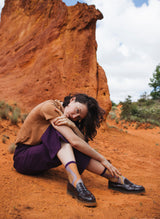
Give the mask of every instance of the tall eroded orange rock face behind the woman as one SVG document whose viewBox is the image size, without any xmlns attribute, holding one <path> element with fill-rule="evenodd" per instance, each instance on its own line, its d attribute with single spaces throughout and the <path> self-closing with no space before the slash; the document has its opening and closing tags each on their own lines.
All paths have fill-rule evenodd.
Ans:
<svg viewBox="0 0 160 219">
<path fill-rule="evenodd" d="M 0 99 L 30 110 L 46 99 L 81 92 L 109 112 L 105 72 L 98 65 L 95 6 L 61 0 L 6 0 L 0 24 Z"/>
</svg>

